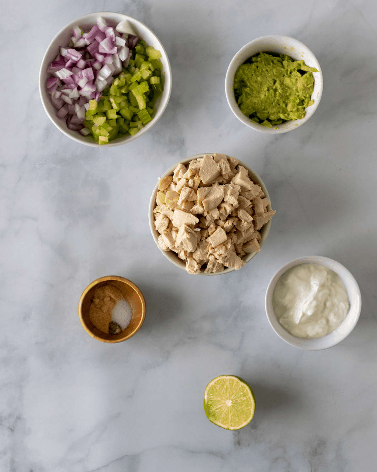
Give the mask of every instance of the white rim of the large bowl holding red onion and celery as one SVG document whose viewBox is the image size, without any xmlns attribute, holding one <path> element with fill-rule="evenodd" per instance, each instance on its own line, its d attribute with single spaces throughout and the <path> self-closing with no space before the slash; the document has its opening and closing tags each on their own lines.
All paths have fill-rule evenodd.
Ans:
<svg viewBox="0 0 377 472">
<path fill-rule="evenodd" d="M 165 67 L 165 64 L 164 64 L 163 72 L 164 72 L 164 90 L 165 90 L 165 87 L 167 85 L 168 92 L 164 95 L 164 100 L 162 100 L 163 97 L 161 97 L 159 99 L 160 100 L 160 103 L 159 103 L 160 108 L 158 110 L 156 110 L 156 115 L 152 118 L 152 120 L 149 123 L 147 123 L 147 125 L 145 125 L 138 133 L 136 133 L 136 135 L 126 136 L 126 137 L 123 137 L 123 138 L 118 138 L 118 139 L 115 139 L 113 141 L 110 141 L 110 143 L 99 146 L 98 143 L 95 143 L 94 141 L 91 141 L 90 139 L 85 139 L 86 136 L 78 135 L 78 134 L 76 134 L 75 131 L 69 130 L 66 127 L 66 125 L 63 126 L 63 122 L 56 115 L 57 110 L 55 108 L 53 109 L 55 111 L 54 115 L 50 112 L 50 110 L 49 110 L 50 107 L 48 106 L 48 104 L 50 104 L 50 100 L 49 100 L 48 93 L 47 93 L 47 90 L 46 90 L 47 65 L 49 63 L 49 60 L 47 60 L 47 59 L 49 58 L 50 50 L 52 48 L 53 43 L 57 40 L 57 38 L 61 34 L 65 33 L 66 30 L 68 30 L 70 28 L 74 28 L 74 26 L 76 26 L 78 23 L 80 23 L 83 19 L 90 20 L 90 18 L 92 18 L 92 17 L 105 17 L 105 19 L 106 19 L 106 16 L 111 16 L 111 15 L 113 15 L 113 16 L 118 15 L 119 17 L 122 18 L 120 21 L 129 20 L 131 22 L 131 25 L 134 24 L 134 25 L 136 25 L 136 27 L 139 26 L 141 28 L 145 28 L 146 30 L 148 30 L 150 32 L 150 34 L 152 34 L 154 36 L 154 38 L 156 39 L 156 42 L 159 43 L 159 50 L 160 50 L 160 52 L 163 56 L 163 59 L 166 62 L 166 65 L 167 65 L 167 67 Z M 107 19 L 109 21 L 113 21 L 110 18 L 107 18 Z M 93 21 L 93 24 L 95 24 L 95 21 Z M 66 136 L 73 139 L 77 143 L 85 144 L 87 146 L 91 146 L 91 147 L 95 147 L 95 148 L 98 148 L 98 147 L 114 147 L 114 146 L 120 146 L 122 144 L 130 143 L 134 139 L 137 139 L 138 137 L 144 135 L 161 118 L 161 116 L 163 115 L 163 113 L 164 113 L 164 111 L 165 111 L 165 109 L 166 109 L 166 107 L 169 103 L 170 95 L 171 95 L 171 92 L 172 92 L 172 68 L 170 66 L 170 61 L 169 61 L 168 55 L 167 55 L 167 53 L 164 49 L 164 46 L 163 46 L 162 42 L 159 40 L 157 35 L 150 28 L 148 28 L 147 25 L 144 25 L 144 23 L 141 23 L 141 21 L 139 21 L 139 20 L 137 20 L 133 17 L 129 17 L 128 15 L 124 15 L 123 13 L 117 13 L 117 12 L 114 12 L 114 11 L 97 11 L 97 12 L 88 13 L 87 15 L 83 15 L 82 17 L 74 19 L 73 21 L 71 21 L 71 23 L 64 26 L 53 37 L 53 39 L 49 43 L 49 46 L 47 47 L 47 49 L 46 49 L 46 51 L 43 55 L 43 59 L 42 59 L 42 62 L 41 62 L 41 67 L 40 67 L 40 70 L 39 70 L 38 84 L 39 84 L 39 95 L 41 97 L 42 106 L 43 106 L 47 116 L 51 120 L 51 122 L 57 127 L 57 129 L 59 131 L 61 131 L 62 133 L 64 133 Z"/>
</svg>

